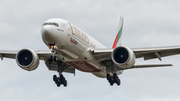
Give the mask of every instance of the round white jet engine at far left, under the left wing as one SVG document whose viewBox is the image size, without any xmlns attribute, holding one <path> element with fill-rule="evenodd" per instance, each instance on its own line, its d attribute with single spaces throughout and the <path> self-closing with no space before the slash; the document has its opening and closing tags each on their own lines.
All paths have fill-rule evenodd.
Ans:
<svg viewBox="0 0 180 101">
<path fill-rule="evenodd" d="M 24 70 L 35 70 L 39 65 L 39 57 L 31 49 L 22 49 L 16 55 L 16 63 Z"/>
</svg>

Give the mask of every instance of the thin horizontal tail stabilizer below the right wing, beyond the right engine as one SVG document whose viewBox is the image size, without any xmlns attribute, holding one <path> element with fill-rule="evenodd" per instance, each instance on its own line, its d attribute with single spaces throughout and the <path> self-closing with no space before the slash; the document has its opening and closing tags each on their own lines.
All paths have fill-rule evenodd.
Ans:
<svg viewBox="0 0 180 101">
<path fill-rule="evenodd" d="M 132 68 L 148 68 L 148 67 L 165 67 L 165 66 L 173 66 L 172 64 L 147 64 L 147 65 L 134 65 Z M 129 69 L 132 69 L 129 68 Z"/>
</svg>

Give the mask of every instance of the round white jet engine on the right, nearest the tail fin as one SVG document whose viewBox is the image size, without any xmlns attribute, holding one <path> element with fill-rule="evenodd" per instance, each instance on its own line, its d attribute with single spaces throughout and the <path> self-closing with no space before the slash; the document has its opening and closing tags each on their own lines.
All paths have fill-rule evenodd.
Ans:
<svg viewBox="0 0 180 101">
<path fill-rule="evenodd" d="M 122 69 L 133 67 L 136 60 L 134 52 L 125 46 L 116 47 L 111 54 L 111 58 L 115 65 Z"/>
</svg>

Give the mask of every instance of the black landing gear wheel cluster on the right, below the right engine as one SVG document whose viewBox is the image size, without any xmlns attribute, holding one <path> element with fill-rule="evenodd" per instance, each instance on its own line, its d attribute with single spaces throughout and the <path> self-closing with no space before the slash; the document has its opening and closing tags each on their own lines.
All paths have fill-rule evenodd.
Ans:
<svg viewBox="0 0 180 101">
<path fill-rule="evenodd" d="M 109 81 L 111 86 L 113 86 L 114 83 L 116 83 L 119 86 L 121 83 L 116 73 L 114 73 L 112 76 L 110 74 L 107 74 L 107 80 Z"/>
</svg>

